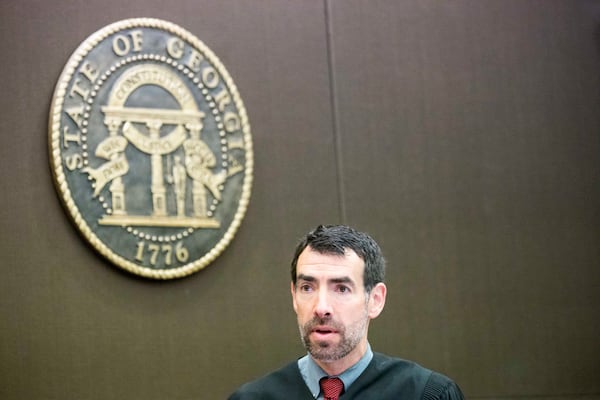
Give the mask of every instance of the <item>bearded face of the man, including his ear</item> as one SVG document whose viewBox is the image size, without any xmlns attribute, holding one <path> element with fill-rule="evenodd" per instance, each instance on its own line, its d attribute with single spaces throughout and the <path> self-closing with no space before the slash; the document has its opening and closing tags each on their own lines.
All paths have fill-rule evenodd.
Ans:
<svg viewBox="0 0 600 400">
<path fill-rule="evenodd" d="M 307 247 L 298 257 L 293 305 L 302 341 L 317 362 L 352 365 L 365 353 L 369 320 L 383 308 L 385 286 L 367 294 L 363 274 L 363 260 L 349 249 L 340 256 Z"/>
</svg>

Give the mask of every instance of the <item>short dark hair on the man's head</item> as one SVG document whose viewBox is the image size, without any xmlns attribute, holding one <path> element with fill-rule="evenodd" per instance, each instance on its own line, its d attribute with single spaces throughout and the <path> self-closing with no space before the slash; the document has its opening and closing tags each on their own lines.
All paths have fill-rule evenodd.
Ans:
<svg viewBox="0 0 600 400">
<path fill-rule="evenodd" d="M 298 257 L 307 247 L 321 254 L 343 256 L 346 249 L 353 250 L 365 263 L 363 274 L 365 291 L 383 282 L 385 278 L 385 259 L 375 240 L 364 232 L 345 225 L 319 225 L 309 232 L 296 247 L 292 259 L 292 282 L 296 285 Z"/>
</svg>

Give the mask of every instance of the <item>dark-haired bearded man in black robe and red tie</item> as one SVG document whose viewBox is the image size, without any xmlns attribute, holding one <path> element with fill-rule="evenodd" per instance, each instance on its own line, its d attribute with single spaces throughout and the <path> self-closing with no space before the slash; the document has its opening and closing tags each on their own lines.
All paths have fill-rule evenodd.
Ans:
<svg viewBox="0 0 600 400">
<path fill-rule="evenodd" d="M 298 245 L 291 293 L 308 354 L 246 383 L 230 400 L 462 400 L 458 385 L 420 365 L 371 350 L 369 321 L 386 299 L 377 243 L 347 226 L 319 226 Z"/>
</svg>

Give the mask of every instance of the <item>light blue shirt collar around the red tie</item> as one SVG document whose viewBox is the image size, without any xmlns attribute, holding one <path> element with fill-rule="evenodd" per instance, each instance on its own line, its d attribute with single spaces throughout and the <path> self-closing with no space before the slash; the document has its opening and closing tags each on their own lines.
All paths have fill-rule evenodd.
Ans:
<svg viewBox="0 0 600 400">
<path fill-rule="evenodd" d="M 371 359 L 373 358 L 373 351 L 371 350 L 371 346 L 367 343 L 367 351 L 362 356 L 360 360 L 344 372 L 342 372 L 337 377 L 344 382 L 344 388 L 348 389 L 352 383 L 363 373 L 363 371 L 367 368 Z M 304 357 L 298 360 L 298 368 L 300 369 L 300 373 L 302 374 L 302 378 L 304 378 L 304 382 L 306 386 L 308 386 L 310 392 L 313 397 L 318 398 L 321 387 L 319 386 L 319 380 L 324 376 L 328 376 L 325 371 L 321 369 L 312 359 L 310 355 L 305 355 Z"/>
</svg>

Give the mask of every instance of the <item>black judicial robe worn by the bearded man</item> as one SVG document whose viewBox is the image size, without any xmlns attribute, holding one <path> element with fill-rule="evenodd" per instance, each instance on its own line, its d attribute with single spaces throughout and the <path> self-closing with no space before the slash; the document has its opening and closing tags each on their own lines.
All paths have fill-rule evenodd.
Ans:
<svg viewBox="0 0 600 400">
<path fill-rule="evenodd" d="M 229 400 L 313 399 L 298 362 L 246 383 Z M 340 400 L 462 400 L 458 385 L 444 375 L 399 358 L 373 353 L 363 373 L 340 396 Z"/>
</svg>

